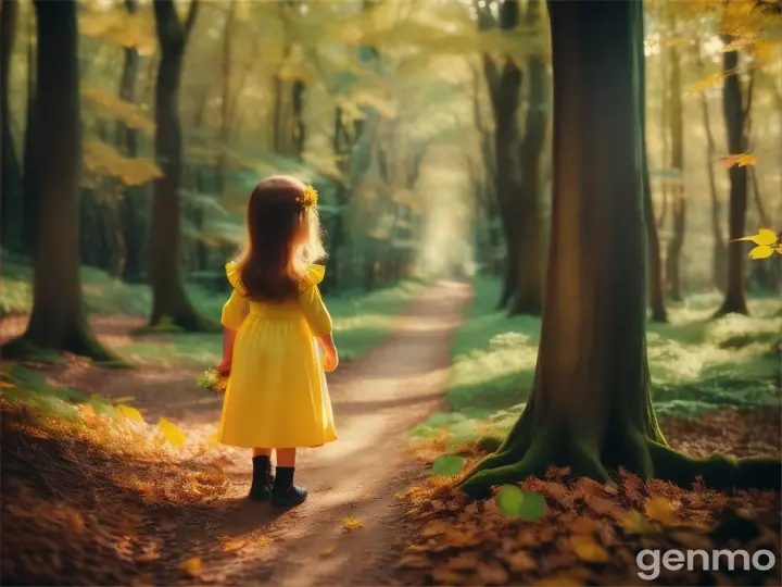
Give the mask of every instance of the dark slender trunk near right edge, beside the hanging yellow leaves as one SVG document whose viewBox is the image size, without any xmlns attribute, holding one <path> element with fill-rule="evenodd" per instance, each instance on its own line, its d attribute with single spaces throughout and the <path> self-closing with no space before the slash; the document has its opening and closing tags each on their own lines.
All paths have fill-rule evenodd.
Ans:
<svg viewBox="0 0 782 587">
<path fill-rule="evenodd" d="M 730 38 L 723 39 L 730 42 Z M 739 66 L 739 53 L 728 51 L 722 53 L 722 71 L 726 74 L 722 85 L 722 110 L 724 113 L 726 129 L 728 132 L 728 152 L 740 154 L 746 147 L 744 136 L 744 105 L 741 84 L 735 73 Z M 728 214 L 728 238 L 735 240 L 744 236 L 746 223 L 747 177 L 746 167 L 733 165 L 728 170 L 730 177 L 730 204 Z M 724 314 L 749 314 L 744 291 L 744 257 L 746 252 L 739 243 L 728 247 L 728 285 L 722 305 L 715 313 L 715 317 Z"/>
</svg>

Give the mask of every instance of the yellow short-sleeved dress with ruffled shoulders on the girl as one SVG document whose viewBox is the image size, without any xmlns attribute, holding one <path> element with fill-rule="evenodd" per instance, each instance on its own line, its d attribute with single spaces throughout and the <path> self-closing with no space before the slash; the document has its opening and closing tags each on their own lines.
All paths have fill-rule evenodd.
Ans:
<svg viewBox="0 0 782 587">
<path fill-rule="evenodd" d="M 310 265 L 290 302 L 245 298 L 236 263 L 223 325 L 238 330 L 217 440 L 243 448 L 317 447 L 337 440 L 326 377 L 315 337 L 331 333 L 317 284 L 325 270 Z M 249 313 L 248 313 L 249 304 Z"/>
</svg>

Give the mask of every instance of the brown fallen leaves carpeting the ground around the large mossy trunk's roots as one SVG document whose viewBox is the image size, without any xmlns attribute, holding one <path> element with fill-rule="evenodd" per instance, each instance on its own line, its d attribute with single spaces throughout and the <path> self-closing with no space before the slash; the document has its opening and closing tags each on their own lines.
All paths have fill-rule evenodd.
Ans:
<svg viewBox="0 0 782 587">
<path fill-rule="evenodd" d="M 779 457 L 778 414 L 727 410 L 696 421 L 663 421 L 669 441 L 701 455 Z M 437 439 L 413 452 L 427 463 L 445 445 Z M 699 449 L 699 450 L 698 450 Z M 567 469 L 551 467 L 545 478 L 495 488 L 493 498 L 470 502 L 455 485 L 485 453 L 476 446 L 456 451 L 465 466 L 451 477 L 421 477 L 398 496 L 406 502 L 412 538 L 399 562 L 406 585 L 638 585 L 636 555 L 644 549 L 760 549 L 780 560 L 780 494 L 718 492 L 699 483 L 684 489 L 659 479 L 644 482 L 621 471 L 616 484 L 569 479 Z M 442 461 L 441 461 L 442 462 Z M 510 489 L 508 489 L 510 488 Z M 540 495 L 544 513 L 507 515 L 508 496 Z M 510 507 L 513 510 L 516 502 Z M 504 513 L 505 512 L 505 513 Z M 699 561 L 697 557 L 695 562 Z M 780 585 L 780 565 L 767 572 L 668 571 L 657 585 Z"/>
</svg>

